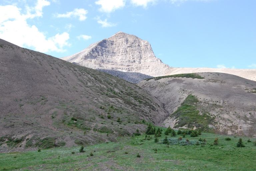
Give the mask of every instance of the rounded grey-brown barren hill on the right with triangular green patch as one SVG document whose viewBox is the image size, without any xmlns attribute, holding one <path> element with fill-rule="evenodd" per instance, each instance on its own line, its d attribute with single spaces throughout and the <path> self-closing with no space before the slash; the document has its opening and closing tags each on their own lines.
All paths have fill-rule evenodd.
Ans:
<svg viewBox="0 0 256 171">
<path fill-rule="evenodd" d="M 255 136 L 256 82 L 223 73 L 196 74 L 204 79 L 179 75 L 147 79 L 138 85 L 164 103 L 169 112 L 165 126 Z"/>
</svg>

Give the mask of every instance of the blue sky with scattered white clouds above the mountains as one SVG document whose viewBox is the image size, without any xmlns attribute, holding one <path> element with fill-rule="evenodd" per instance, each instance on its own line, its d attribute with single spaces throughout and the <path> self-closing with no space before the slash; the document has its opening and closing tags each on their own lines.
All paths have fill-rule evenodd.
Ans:
<svg viewBox="0 0 256 171">
<path fill-rule="evenodd" d="M 60 58 L 122 31 L 170 67 L 256 69 L 255 0 L 1 0 L 0 38 Z"/>
</svg>

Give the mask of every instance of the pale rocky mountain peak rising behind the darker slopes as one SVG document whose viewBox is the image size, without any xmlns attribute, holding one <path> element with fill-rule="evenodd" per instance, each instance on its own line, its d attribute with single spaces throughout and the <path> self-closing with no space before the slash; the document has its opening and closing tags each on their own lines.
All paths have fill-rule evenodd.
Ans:
<svg viewBox="0 0 256 171">
<path fill-rule="evenodd" d="M 163 76 L 169 68 L 155 57 L 148 41 L 123 32 L 61 59 L 92 69 L 139 72 L 154 77 Z"/>
</svg>

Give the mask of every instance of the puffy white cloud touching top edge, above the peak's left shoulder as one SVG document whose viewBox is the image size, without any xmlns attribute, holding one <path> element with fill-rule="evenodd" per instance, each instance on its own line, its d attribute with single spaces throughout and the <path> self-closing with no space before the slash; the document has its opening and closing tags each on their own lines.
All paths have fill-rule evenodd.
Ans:
<svg viewBox="0 0 256 171">
<path fill-rule="evenodd" d="M 100 11 L 110 13 L 116 9 L 122 8 L 125 6 L 126 0 L 98 0 L 95 2 L 97 5 L 101 5 Z"/>
</svg>

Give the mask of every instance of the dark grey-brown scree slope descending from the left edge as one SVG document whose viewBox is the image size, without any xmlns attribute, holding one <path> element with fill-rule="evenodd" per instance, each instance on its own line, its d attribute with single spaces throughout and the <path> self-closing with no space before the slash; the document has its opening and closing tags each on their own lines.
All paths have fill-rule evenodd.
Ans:
<svg viewBox="0 0 256 171">
<path fill-rule="evenodd" d="M 118 77 L 0 39 L 0 152 L 114 141 L 146 127 L 134 122 L 161 123 L 160 106 Z"/>
</svg>

